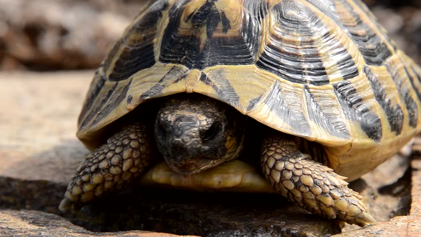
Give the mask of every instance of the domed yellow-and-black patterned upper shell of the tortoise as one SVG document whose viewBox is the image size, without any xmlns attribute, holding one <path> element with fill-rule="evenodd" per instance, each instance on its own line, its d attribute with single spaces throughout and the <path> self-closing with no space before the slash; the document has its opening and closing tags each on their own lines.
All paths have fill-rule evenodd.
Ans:
<svg viewBox="0 0 421 237">
<path fill-rule="evenodd" d="M 360 0 L 155 1 L 96 71 L 77 136 L 94 148 L 139 104 L 180 92 L 323 144 L 348 180 L 421 128 L 421 68 Z"/>
</svg>

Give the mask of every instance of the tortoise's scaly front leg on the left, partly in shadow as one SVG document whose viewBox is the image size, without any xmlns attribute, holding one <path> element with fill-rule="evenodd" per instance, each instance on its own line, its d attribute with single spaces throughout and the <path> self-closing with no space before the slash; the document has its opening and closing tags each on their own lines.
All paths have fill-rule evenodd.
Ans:
<svg viewBox="0 0 421 237">
<path fill-rule="evenodd" d="M 152 131 L 142 123 L 133 123 L 114 134 L 79 165 L 59 209 L 75 209 L 126 188 L 151 163 L 152 142 Z"/>
</svg>

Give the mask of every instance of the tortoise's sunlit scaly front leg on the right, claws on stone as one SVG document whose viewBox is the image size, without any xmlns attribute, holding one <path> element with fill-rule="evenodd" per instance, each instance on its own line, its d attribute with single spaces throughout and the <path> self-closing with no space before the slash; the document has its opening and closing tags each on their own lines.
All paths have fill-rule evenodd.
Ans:
<svg viewBox="0 0 421 237">
<path fill-rule="evenodd" d="M 289 140 L 290 138 L 291 140 Z M 298 150 L 294 138 L 269 135 L 262 144 L 261 165 L 266 179 L 300 207 L 331 219 L 365 226 L 377 221 L 357 192 L 333 169 Z"/>
</svg>

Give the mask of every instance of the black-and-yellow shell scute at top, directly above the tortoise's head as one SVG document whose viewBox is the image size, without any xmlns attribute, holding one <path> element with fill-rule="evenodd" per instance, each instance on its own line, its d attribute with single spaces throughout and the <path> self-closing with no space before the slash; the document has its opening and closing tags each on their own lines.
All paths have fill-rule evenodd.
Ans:
<svg viewBox="0 0 421 237">
<path fill-rule="evenodd" d="M 260 24 L 240 2 L 184 2 L 174 5 L 168 18 L 161 42 L 161 62 L 200 70 L 219 64 L 254 63 Z"/>
</svg>

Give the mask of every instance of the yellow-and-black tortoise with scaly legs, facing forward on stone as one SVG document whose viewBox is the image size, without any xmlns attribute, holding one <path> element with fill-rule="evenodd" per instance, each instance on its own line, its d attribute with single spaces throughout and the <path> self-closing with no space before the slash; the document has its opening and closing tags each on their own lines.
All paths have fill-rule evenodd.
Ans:
<svg viewBox="0 0 421 237">
<path fill-rule="evenodd" d="M 94 75 L 77 132 L 91 153 L 59 208 L 160 158 L 189 177 L 255 153 L 296 205 L 375 224 L 347 182 L 420 132 L 420 96 L 420 66 L 360 0 L 157 0 Z"/>
</svg>

